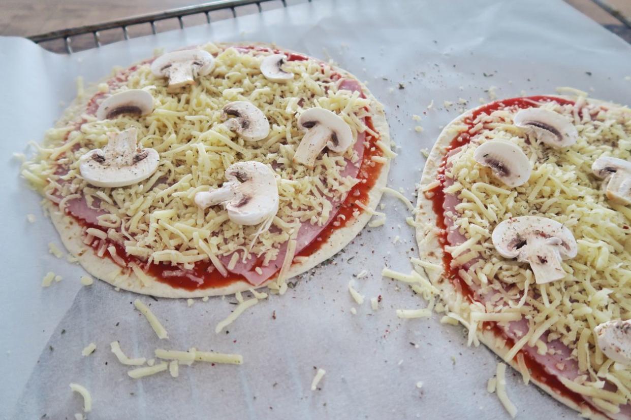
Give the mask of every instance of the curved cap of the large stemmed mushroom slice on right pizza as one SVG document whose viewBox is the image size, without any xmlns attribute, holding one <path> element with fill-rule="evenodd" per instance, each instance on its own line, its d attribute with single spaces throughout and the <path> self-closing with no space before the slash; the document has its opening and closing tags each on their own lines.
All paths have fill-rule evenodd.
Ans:
<svg viewBox="0 0 631 420">
<path fill-rule="evenodd" d="M 516 258 L 521 248 L 532 240 L 545 240 L 558 250 L 563 259 L 574 258 L 578 247 L 572 232 L 556 220 L 547 217 L 521 216 L 506 219 L 493 229 L 492 241 L 505 258 Z"/>
</svg>

